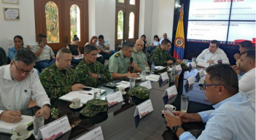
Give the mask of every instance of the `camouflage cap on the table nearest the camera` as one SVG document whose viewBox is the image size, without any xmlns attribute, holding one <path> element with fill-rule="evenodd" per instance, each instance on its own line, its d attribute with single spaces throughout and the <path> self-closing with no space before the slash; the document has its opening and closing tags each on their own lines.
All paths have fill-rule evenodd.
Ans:
<svg viewBox="0 0 256 140">
<path fill-rule="evenodd" d="M 108 109 L 107 101 L 100 99 L 89 100 L 84 109 L 80 111 L 86 117 L 93 117 L 99 112 L 106 112 Z"/>
</svg>

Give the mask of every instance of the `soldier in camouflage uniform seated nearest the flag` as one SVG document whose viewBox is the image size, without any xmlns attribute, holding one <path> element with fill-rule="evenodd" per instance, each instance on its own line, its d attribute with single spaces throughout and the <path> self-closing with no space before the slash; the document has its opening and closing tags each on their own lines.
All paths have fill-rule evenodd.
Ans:
<svg viewBox="0 0 256 140">
<path fill-rule="evenodd" d="M 180 63 L 181 61 L 177 58 L 173 58 L 167 50 L 171 48 L 171 42 L 168 39 L 163 39 L 160 47 L 157 47 L 151 52 L 150 63 L 155 64 L 155 66 L 166 66 L 171 63 Z"/>
</svg>

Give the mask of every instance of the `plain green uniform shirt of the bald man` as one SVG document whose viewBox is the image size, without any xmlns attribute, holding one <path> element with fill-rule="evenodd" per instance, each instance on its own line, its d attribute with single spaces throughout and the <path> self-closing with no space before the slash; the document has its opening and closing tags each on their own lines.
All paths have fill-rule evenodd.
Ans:
<svg viewBox="0 0 256 140">
<path fill-rule="evenodd" d="M 137 64 L 139 69 L 144 70 L 145 67 L 147 67 L 147 56 L 145 55 L 144 52 L 138 52 L 134 47 L 133 55 L 131 55 L 131 57 L 133 57 L 133 62 Z"/>
</svg>

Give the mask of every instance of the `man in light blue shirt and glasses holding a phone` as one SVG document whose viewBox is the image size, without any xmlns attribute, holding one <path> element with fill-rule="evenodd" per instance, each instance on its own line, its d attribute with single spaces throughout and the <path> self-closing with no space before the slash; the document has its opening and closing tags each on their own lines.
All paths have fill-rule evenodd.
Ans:
<svg viewBox="0 0 256 140">
<path fill-rule="evenodd" d="M 255 140 L 255 103 L 252 98 L 238 91 L 236 72 L 226 64 L 210 66 L 206 72 L 205 83 L 201 88 L 206 99 L 214 104 L 214 110 L 194 114 L 174 112 L 175 117 L 165 112 L 168 127 L 179 140 L 196 139 L 181 127 L 181 123 L 188 122 L 206 123 L 205 130 L 198 137 L 201 140 Z"/>
</svg>

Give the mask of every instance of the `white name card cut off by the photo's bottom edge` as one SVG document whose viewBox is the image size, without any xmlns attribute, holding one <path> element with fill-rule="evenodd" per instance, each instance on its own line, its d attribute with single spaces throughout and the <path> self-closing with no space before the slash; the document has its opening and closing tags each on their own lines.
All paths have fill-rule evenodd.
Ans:
<svg viewBox="0 0 256 140">
<path fill-rule="evenodd" d="M 101 126 L 98 126 L 97 128 L 93 129 L 92 131 L 89 131 L 88 133 L 85 133 L 85 135 L 80 136 L 76 140 L 84 140 L 84 139 L 104 140 L 103 133 L 102 133 L 102 130 L 101 130 Z"/>
</svg>

